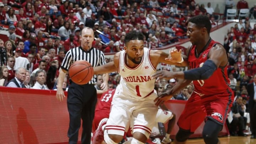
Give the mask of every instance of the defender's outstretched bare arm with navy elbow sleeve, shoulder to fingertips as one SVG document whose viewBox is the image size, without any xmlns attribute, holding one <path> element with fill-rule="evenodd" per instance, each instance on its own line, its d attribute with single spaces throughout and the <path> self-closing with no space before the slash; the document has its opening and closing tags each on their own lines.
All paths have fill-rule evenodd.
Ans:
<svg viewBox="0 0 256 144">
<path fill-rule="evenodd" d="M 225 66 L 228 63 L 226 50 L 221 45 L 213 47 L 209 52 L 209 59 L 200 68 L 187 71 L 169 72 L 159 71 L 154 74 L 153 78 L 178 78 L 187 80 L 206 80 L 219 66 Z"/>
</svg>

